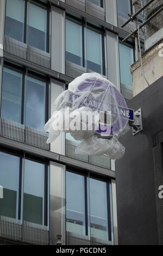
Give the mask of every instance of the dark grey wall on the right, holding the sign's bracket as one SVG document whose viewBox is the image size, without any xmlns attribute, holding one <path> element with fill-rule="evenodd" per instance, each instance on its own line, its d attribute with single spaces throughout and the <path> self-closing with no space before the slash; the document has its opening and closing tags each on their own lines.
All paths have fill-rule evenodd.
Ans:
<svg viewBox="0 0 163 256">
<path fill-rule="evenodd" d="M 126 154 L 116 161 L 119 245 L 163 245 L 163 77 L 128 101 L 142 109 L 143 131 L 121 139 Z"/>
</svg>

